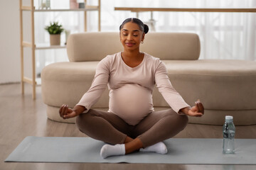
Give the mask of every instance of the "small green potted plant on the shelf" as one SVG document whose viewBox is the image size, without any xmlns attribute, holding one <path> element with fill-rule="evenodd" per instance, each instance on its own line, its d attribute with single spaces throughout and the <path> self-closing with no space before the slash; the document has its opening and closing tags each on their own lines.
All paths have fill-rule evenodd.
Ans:
<svg viewBox="0 0 256 170">
<path fill-rule="evenodd" d="M 60 45 L 60 33 L 64 30 L 62 25 L 58 22 L 50 22 L 50 25 L 46 26 L 45 30 L 50 34 L 50 45 Z"/>
</svg>

